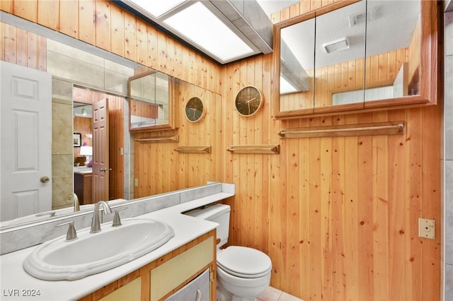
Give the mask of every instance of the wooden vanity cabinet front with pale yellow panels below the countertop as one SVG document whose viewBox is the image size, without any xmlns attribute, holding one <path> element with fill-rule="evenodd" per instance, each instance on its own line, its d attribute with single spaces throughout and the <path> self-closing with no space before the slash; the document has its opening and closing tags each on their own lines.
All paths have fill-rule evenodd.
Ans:
<svg viewBox="0 0 453 301">
<path fill-rule="evenodd" d="M 82 298 L 94 300 L 166 300 L 210 270 L 210 300 L 216 297 L 216 230 Z"/>
</svg>

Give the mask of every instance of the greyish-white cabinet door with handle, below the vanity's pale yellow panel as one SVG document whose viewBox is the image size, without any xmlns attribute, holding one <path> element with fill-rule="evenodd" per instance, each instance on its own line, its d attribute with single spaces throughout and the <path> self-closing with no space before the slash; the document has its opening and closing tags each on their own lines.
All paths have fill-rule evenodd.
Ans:
<svg viewBox="0 0 453 301">
<path fill-rule="evenodd" d="M 166 301 L 210 301 L 210 268 L 190 281 L 183 288 L 166 299 Z"/>
</svg>

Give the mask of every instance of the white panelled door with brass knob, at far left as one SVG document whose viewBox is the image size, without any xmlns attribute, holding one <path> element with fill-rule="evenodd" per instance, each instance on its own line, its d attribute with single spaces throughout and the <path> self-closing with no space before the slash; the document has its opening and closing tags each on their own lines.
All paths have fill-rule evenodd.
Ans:
<svg viewBox="0 0 453 301">
<path fill-rule="evenodd" d="M 52 210 L 52 76 L 0 61 L 0 221 Z"/>
</svg>

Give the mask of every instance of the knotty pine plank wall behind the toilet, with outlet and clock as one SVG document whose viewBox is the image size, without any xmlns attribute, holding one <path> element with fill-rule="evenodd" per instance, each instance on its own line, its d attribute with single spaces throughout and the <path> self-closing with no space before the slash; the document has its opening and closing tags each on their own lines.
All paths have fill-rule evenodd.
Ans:
<svg viewBox="0 0 453 301">
<path fill-rule="evenodd" d="M 330 2 L 302 1 L 273 20 Z M 267 100 L 269 61 L 225 68 L 226 108 L 251 83 Z M 236 184 L 230 242 L 270 254 L 273 286 L 304 300 L 440 300 L 440 232 L 418 237 L 420 217 L 440 230 L 440 107 L 282 122 L 266 110 L 252 119 L 230 112 L 226 144 L 281 146 L 280 155 L 225 160 L 226 182 Z M 406 122 L 404 135 L 275 139 L 280 128 L 394 120 Z"/>
</svg>

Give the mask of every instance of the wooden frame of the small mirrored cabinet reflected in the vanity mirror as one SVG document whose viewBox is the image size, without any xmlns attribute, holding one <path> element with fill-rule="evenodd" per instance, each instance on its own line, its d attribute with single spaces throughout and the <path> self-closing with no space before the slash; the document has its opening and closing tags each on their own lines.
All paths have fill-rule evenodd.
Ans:
<svg viewBox="0 0 453 301">
<path fill-rule="evenodd" d="M 135 79 L 142 78 L 144 76 L 149 76 L 154 73 L 158 73 L 159 71 L 156 71 L 154 69 L 149 69 L 149 71 L 138 73 L 134 76 L 131 76 L 127 80 L 127 102 L 129 102 L 129 131 L 130 132 L 139 132 L 139 131 L 160 131 L 160 130 L 166 130 L 166 129 L 176 129 L 178 126 L 176 126 L 176 114 L 177 114 L 177 108 L 176 104 L 174 102 L 174 87 L 176 83 L 176 78 L 173 76 L 168 75 L 168 124 L 158 124 L 158 125 L 152 125 L 152 126 L 142 126 L 142 127 L 131 127 L 131 112 L 132 112 L 132 97 L 130 95 L 130 85 L 131 81 L 134 81 Z"/>
</svg>

